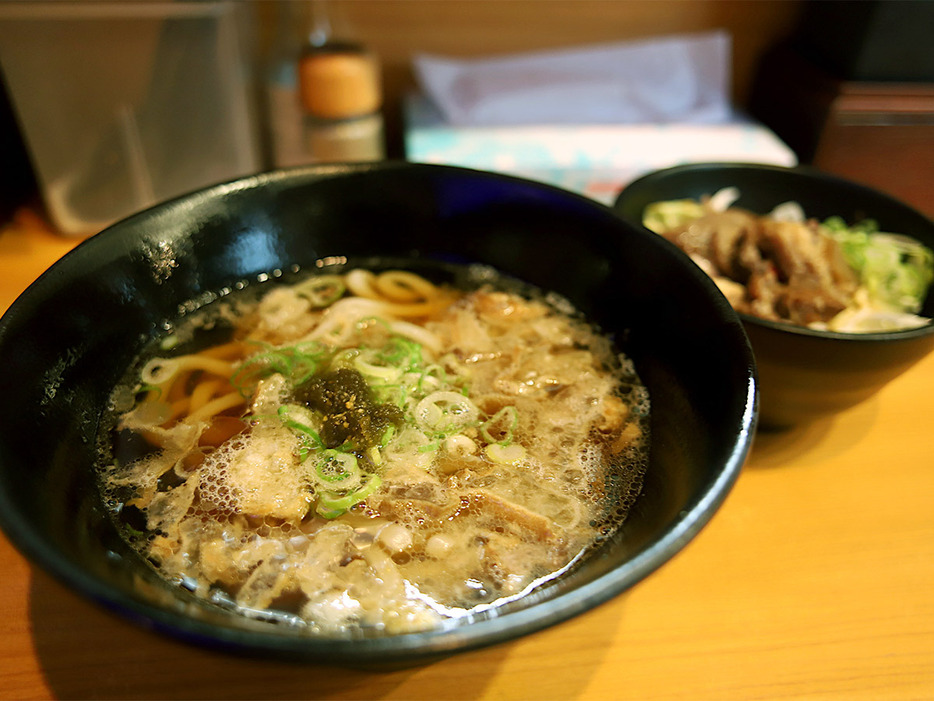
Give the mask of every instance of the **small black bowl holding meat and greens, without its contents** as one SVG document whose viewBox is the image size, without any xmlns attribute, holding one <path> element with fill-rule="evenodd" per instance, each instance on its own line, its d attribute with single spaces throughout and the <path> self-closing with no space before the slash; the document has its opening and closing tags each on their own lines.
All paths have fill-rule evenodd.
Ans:
<svg viewBox="0 0 934 701">
<path fill-rule="evenodd" d="M 798 202 L 809 217 L 875 219 L 884 231 L 906 234 L 934 248 L 934 223 L 908 205 L 821 171 L 746 163 L 675 166 L 626 186 L 615 211 L 641 225 L 653 202 L 697 199 L 725 187 L 739 189 L 735 206 L 758 214 Z M 685 256 L 686 257 L 686 256 Z M 934 318 L 934 292 L 922 315 Z M 934 325 L 885 333 L 815 331 L 740 314 L 759 370 L 760 425 L 783 428 L 834 414 L 869 398 L 934 348 Z"/>
</svg>

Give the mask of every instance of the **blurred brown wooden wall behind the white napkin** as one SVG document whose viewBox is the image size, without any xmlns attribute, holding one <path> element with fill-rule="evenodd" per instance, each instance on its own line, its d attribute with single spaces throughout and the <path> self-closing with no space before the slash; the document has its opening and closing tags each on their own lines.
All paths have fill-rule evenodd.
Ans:
<svg viewBox="0 0 934 701">
<path fill-rule="evenodd" d="M 802 0 L 331 0 L 335 33 L 352 33 L 379 56 L 390 156 L 402 155 L 401 100 L 416 85 L 418 52 L 452 57 L 724 29 L 733 41 L 733 97 L 743 107 L 760 59 L 788 36 Z M 277 3 L 262 2 L 258 48 L 274 41 Z"/>
</svg>

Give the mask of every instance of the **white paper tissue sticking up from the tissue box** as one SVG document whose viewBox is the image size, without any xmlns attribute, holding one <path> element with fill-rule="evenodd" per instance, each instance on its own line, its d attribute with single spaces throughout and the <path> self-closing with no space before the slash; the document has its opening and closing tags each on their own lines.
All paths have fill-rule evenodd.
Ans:
<svg viewBox="0 0 934 701">
<path fill-rule="evenodd" d="M 414 65 L 450 124 L 502 126 L 727 121 L 730 62 L 730 37 L 715 31 Z"/>
</svg>

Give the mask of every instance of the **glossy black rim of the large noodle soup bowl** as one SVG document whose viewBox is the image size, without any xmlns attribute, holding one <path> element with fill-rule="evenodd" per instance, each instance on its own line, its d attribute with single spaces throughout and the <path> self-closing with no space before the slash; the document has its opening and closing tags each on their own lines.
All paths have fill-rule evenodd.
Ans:
<svg viewBox="0 0 934 701">
<path fill-rule="evenodd" d="M 600 211 L 601 216 L 610 220 L 619 218 L 613 211 L 590 198 L 578 195 L 551 185 L 514 177 L 501 173 L 480 171 L 457 166 L 412 164 L 407 162 L 383 162 L 379 164 L 300 166 L 279 169 L 260 174 L 247 175 L 218 183 L 206 188 L 186 193 L 176 198 L 156 204 L 130 215 L 78 244 L 54 263 L 36 281 L 24 291 L 10 309 L 0 318 L 0 338 L 5 334 L 5 327 L 10 313 L 16 313 L 19 300 L 26 295 L 36 294 L 43 279 L 57 275 L 63 269 L 78 264 L 83 251 L 105 246 L 109 239 L 126 236 L 125 229 L 132 228 L 138 221 L 159 216 L 161 213 L 184 208 L 187 203 L 205 198 L 216 198 L 226 193 L 242 189 L 262 188 L 271 182 L 301 179 L 317 174 L 322 178 L 341 176 L 347 173 L 361 173 L 373 170 L 392 170 L 393 168 L 422 168 L 436 170 L 456 170 L 472 173 L 488 181 L 503 181 L 532 186 L 542 191 L 576 200 L 578 203 Z M 85 248 L 87 247 L 87 248 Z M 673 245 L 674 250 L 677 250 Z M 716 291 L 716 286 L 709 281 L 702 271 L 689 273 L 702 276 Z M 719 291 L 716 291 L 719 294 Z M 737 329 L 742 332 L 742 326 Z M 444 627 L 424 632 L 383 635 L 377 637 L 337 638 L 313 635 L 282 635 L 268 630 L 246 630 L 215 626 L 197 620 L 184 613 L 169 610 L 148 601 L 134 599 L 129 595 L 110 587 L 103 578 L 98 578 L 77 564 L 63 558 L 49 543 L 38 536 L 26 519 L 11 518 L 9 510 L 2 508 L 10 501 L 10 495 L 0 492 L 0 527 L 11 543 L 32 563 L 53 575 L 66 587 L 74 587 L 85 598 L 95 601 L 106 609 L 130 619 L 144 628 L 183 642 L 208 648 L 226 649 L 228 652 L 251 656 L 274 657 L 306 663 L 338 664 L 344 666 L 369 666 L 380 663 L 417 664 L 437 657 L 487 647 L 489 645 L 516 639 L 534 633 L 557 623 L 568 620 L 585 611 L 592 610 L 611 598 L 632 588 L 638 582 L 671 560 L 689 541 L 710 521 L 720 505 L 725 501 L 732 486 L 738 479 L 740 470 L 752 448 L 755 427 L 758 420 L 758 380 L 755 372 L 755 360 L 748 338 L 745 339 L 744 352 L 747 359 L 746 387 L 741 415 L 732 417 L 735 422 L 736 436 L 732 441 L 729 454 L 724 460 L 715 478 L 709 480 L 698 491 L 693 503 L 685 504 L 671 525 L 661 531 L 655 539 L 639 550 L 623 565 L 611 570 L 593 581 L 562 593 L 553 599 L 533 603 L 516 611 L 509 611 L 468 624 L 454 622 L 449 629 Z"/>
</svg>

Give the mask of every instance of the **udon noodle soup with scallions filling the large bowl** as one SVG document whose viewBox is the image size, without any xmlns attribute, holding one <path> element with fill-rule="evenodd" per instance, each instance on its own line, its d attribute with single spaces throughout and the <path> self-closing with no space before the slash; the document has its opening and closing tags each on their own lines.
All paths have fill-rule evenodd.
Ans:
<svg viewBox="0 0 934 701">
<path fill-rule="evenodd" d="M 105 495 L 165 578 L 245 615 L 404 633 L 521 597 L 644 469 L 644 388 L 561 306 L 401 270 L 276 287 L 225 342 L 141 360 Z"/>
</svg>

